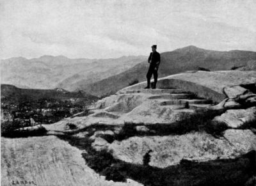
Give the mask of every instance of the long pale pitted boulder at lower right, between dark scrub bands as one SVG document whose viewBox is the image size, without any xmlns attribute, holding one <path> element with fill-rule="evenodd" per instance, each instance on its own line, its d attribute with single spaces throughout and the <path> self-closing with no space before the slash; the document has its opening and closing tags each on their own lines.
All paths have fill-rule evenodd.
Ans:
<svg viewBox="0 0 256 186">
<path fill-rule="evenodd" d="M 237 140 L 235 134 L 239 136 Z M 216 139 L 205 132 L 180 136 L 130 137 L 109 144 L 109 150 L 116 159 L 132 164 L 143 164 L 143 157 L 152 150 L 149 165 L 161 168 L 180 164 L 180 160 L 184 159 L 197 162 L 235 159 L 250 150 L 256 150 L 256 136 L 250 130 L 228 130 L 225 136 L 228 140 Z M 237 141 L 241 142 L 237 144 Z"/>
</svg>

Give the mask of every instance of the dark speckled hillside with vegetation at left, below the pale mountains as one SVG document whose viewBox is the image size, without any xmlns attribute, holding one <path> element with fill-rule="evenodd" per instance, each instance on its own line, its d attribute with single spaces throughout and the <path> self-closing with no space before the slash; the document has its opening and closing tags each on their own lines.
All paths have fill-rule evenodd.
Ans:
<svg viewBox="0 0 256 186">
<path fill-rule="evenodd" d="M 96 97 L 63 89 L 19 89 L 1 86 L 1 134 L 21 127 L 50 124 L 82 112 Z"/>
</svg>

